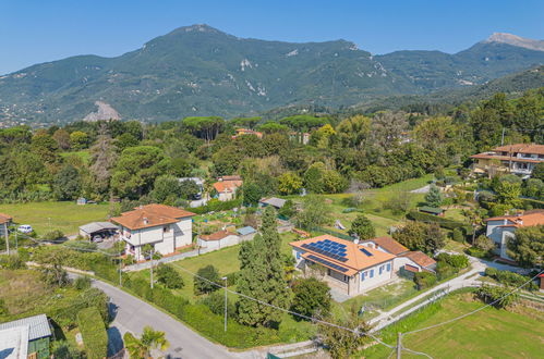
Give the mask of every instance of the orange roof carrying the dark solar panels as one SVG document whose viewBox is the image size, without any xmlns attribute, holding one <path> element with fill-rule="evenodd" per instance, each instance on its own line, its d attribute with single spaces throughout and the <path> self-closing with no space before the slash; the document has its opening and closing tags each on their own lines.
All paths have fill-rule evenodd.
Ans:
<svg viewBox="0 0 544 359">
<path fill-rule="evenodd" d="M 335 246 L 343 246 L 344 255 L 343 256 L 335 256 L 337 258 L 330 257 L 330 252 L 325 252 L 324 250 L 317 251 L 315 250 L 315 247 L 309 247 L 309 245 L 312 244 L 317 244 L 317 243 L 336 243 Z M 346 275 L 353 275 L 361 270 L 364 270 L 370 267 L 374 267 L 376 264 L 392 260 L 395 258 L 394 255 L 386 253 L 382 250 L 375 249 L 375 248 L 370 248 L 360 244 L 355 244 L 350 240 L 344 240 L 337 238 L 331 235 L 322 235 L 309 239 L 303 239 L 303 240 L 298 240 L 298 242 L 291 242 L 289 245 L 291 245 L 294 248 L 301 249 L 305 251 L 303 253 L 304 258 L 307 258 L 310 256 L 313 256 L 314 258 L 318 258 L 323 261 L 315 260 L 310 258 L 313 261 L 318 261 L 321 264 L 330 268 L 333 270 L 339 271 L 338 268 L 340 267 L 342 269 L 346 269 L 344 272 L 341 272 L 342 274 Z M 329 263 L 329 264 L 327 264 Z M 330 265 L 333 264 L 333 265 Z"/>
</svg>

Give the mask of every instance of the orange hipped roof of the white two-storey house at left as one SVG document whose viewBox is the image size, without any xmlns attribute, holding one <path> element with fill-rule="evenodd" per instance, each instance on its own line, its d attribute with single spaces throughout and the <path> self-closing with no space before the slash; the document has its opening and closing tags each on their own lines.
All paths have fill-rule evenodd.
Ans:
<svg viewBox="0 0 544 359">
<path fill-rule="evenodd" d="M 195 215 L 171 206 L 147 205 L 136 207 L 133 211 L 114 216 L 112 222 L 119 223 L 129 230 L 148 228 L 158 225 L 177 223 L 180 219 Z"/>
</svg>

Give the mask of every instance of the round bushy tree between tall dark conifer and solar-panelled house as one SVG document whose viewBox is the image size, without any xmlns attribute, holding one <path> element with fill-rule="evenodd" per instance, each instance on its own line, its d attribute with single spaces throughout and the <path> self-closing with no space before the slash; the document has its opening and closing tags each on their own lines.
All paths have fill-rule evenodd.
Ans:
<svg viewBox="0 0 544 359">
<path fill-rule="evenodd" d="M 315 277 L 302 278 L 292 285 L 294 294 L 291 310 L 306 317 L 328 317 L 330 311 L 330 288 Z M 294 317 L 301 320 L 300 317 Z"/>
</svg>

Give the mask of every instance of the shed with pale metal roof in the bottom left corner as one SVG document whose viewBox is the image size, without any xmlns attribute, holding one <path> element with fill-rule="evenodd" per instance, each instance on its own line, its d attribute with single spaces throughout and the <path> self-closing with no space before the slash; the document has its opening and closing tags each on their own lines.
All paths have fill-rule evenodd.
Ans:
<svg viewBox="0 0 544 359">
<path fill-rule="evenodd" d="M 46 314 L 0 323 L 0 358 L 49 358 L 51 335 Z"/>
</svg>

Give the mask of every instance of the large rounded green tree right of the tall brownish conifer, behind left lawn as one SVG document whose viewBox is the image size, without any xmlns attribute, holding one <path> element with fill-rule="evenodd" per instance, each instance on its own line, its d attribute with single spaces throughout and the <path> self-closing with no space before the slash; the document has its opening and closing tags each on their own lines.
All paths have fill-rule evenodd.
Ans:
<svg viewBox="0 0 544 359">
<path fill-rule="evenodd" d="M 152 189 L 155 178 L 167 172 L 170 160 L 161 149 L 137 146 L 125 149 L 117 163 L 111 187 L 113 193 L 137 199 Z"/>
</svg>

